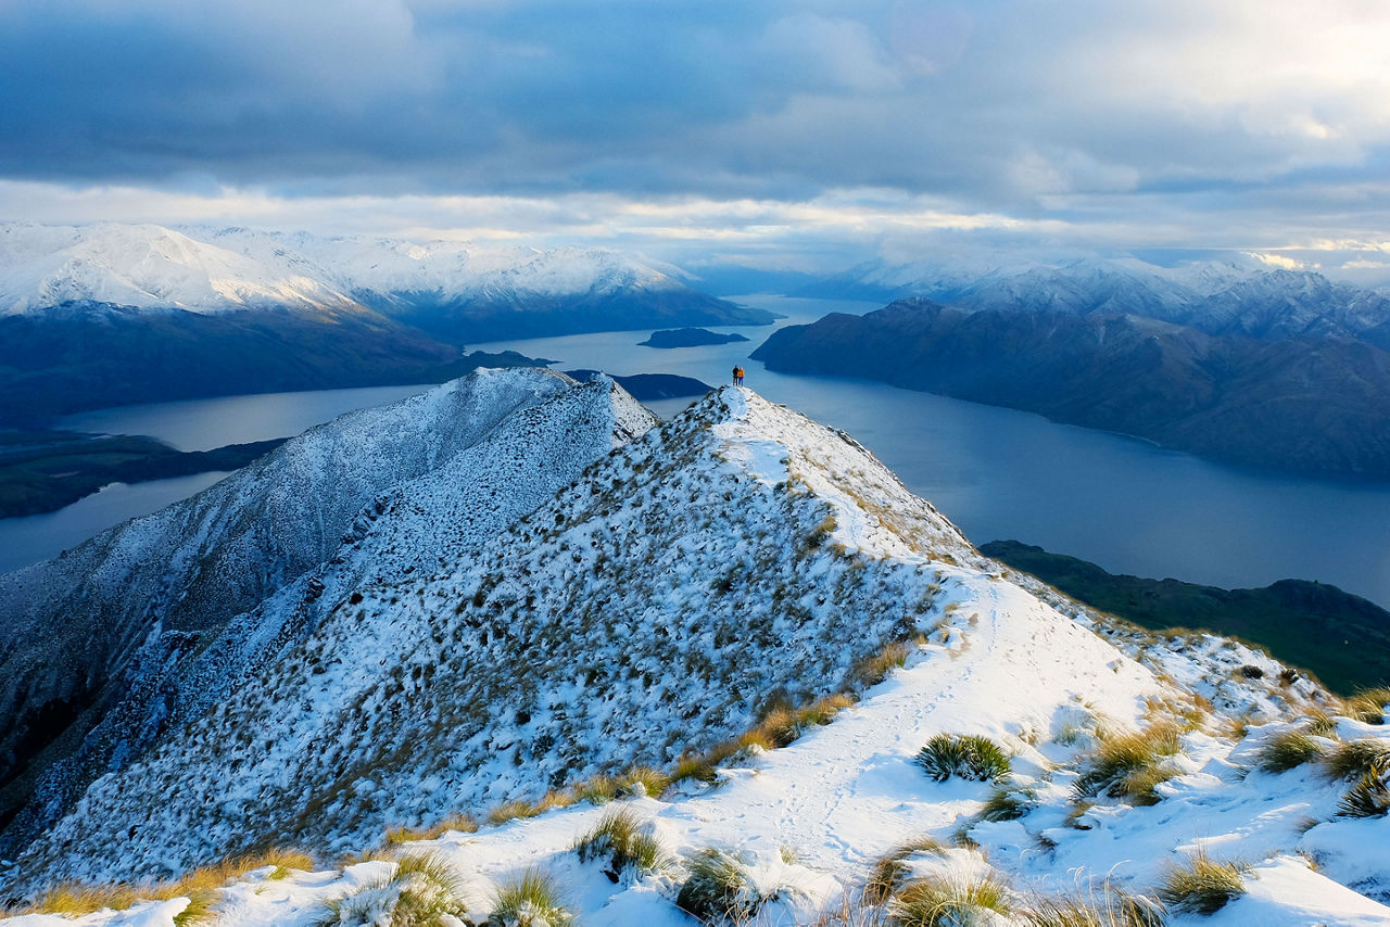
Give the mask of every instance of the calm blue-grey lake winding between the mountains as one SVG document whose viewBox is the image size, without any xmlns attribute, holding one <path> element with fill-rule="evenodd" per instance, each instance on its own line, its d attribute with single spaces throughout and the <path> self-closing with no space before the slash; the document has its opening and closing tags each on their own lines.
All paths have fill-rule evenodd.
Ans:
<svg viewBox="0 0 1390 927">
<path fill-rule="evenodd" d="M 878 307 L 780 296 L 731 299 L 788 314 L 777 327 L 813 321 L 826 311 Z M 738 331 L 751 341 L 657 350 L 637 346 L 646 332 L 605 332 L 470 345 L 470 350 L 510 347 L 557 359 L 560 370 L 669 372 L 708 384 L 726 382 L 733 366 L 742 363 L 749 388 L 851 432 L 972 541 L 1017 539 L 1111 571 L 1220 586 L 1258 586 L 1284 577 L 1319 580 L 1390 607 L 1390 484 L 1248 471 L 1031 413 L 874 382 L 771 374 L 746 360 L 771 327 L 714 331 Z M 366 396 L 370 391 L 329 392 Z M 285 428 L 284 423 L 293 421 L 297 431 L 313 424 L 307 418 L 348 410 L 325 411 L 324 399 L 325 393 L 289 393 L 167 403 L 92 413 L 64 425 L 149 434 L 197 449 L 197 442 L 215 446 L 292 434 L 274 431 L 268 423 Z M 685 404 L 651 403 L 664 416 Z M 8 523 L 64 513 L 0 521 L 0 550 L 21 541 L 6 534 Z M 24 542 L 46 550 L 42 556 L 72 543 L 53 548 L 40 536 L 39 524 L 26 531 Z"/>
</svg>

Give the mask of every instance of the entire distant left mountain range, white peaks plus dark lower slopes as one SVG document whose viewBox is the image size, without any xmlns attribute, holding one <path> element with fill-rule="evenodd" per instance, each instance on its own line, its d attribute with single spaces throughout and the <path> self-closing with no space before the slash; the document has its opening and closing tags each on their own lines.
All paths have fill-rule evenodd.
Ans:
<svg viewBox="0 0 1390 927">
<path fill-rule="evenodd" d="M 0 424 L 250 392 L 441 382 L 468 342 L 764 324 L 598 249 L 239 228 L 0 225 Z"/>
</svg>

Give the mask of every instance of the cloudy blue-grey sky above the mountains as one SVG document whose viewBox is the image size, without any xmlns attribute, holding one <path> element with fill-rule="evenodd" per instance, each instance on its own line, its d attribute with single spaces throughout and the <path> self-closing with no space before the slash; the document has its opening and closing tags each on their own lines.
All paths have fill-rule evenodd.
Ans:
<svg viewBox="0 0 1390 927">
<path fill-rule="evenodd" d="M 0 218 L 1390 277 L 1390 3 L 0 0 Z"/>
</svg>

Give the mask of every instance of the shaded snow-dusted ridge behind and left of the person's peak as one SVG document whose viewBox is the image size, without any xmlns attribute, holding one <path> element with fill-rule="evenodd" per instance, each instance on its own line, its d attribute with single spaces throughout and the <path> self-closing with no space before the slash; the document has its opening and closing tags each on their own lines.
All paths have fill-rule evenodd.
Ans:
<svg viewBox="0 0 1390 927">
<path fill-rule="evenodd" d="M 545 411 L 520 416 L 538 406 Z M 336 603 L 324 598 L 335 575 L 364 575 L 374 561 L 409 573 L 414 563 L 402 557 L 425 556 L 431 531 L 466 545 L 468 520 L 474 535 L 506 524 L 517 506 L 534 507 L 613 441 L 649 424 L 606 382 L 578 386 L 546 370 L 481 371 L 314 428 L 193 499 L 0 577 L 10 813 L 61 762 L 8 827 L 7 845 L 22 845 L 95 776 L 138 755 L 189 692 L 213 691 L 208 667 L 235 677 L 264 648 L 307 632 L 318 610 Z M 567 441 L 574 432 L 585 438 Z M 507 448 L 524 453 L 507 459 Z M 528 475 L 499 492 L 489 467 Z M 445 504 L 439 484 L 450 479 L 466 489 Z M 374 520 L 384 525 L 375 534 Z M 322 575 L 306 575 L 345 534 L 373 543 L 357 557 L 348 550 Z M 282 588 L 268 614 L 236 624 L 250 628 L 236 648 L 215 643 L 228 620 Z M 202 670 L 188 675 L 204 648 L 195 664 Z"/>
</svg>

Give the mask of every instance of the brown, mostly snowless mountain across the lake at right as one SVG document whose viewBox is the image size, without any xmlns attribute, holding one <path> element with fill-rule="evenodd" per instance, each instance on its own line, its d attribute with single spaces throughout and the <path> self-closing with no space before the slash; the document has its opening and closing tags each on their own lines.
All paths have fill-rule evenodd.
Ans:
<svg viewBox="0 0 1390 927">
<path fill-rule="evenodd" d="M 1390 477 L 1390 353 L 1350 338 L 1211 335 L 1137 314 L 906 299 L 783 328 L 752 357 L 1241 464 Z"/>
</svg>

